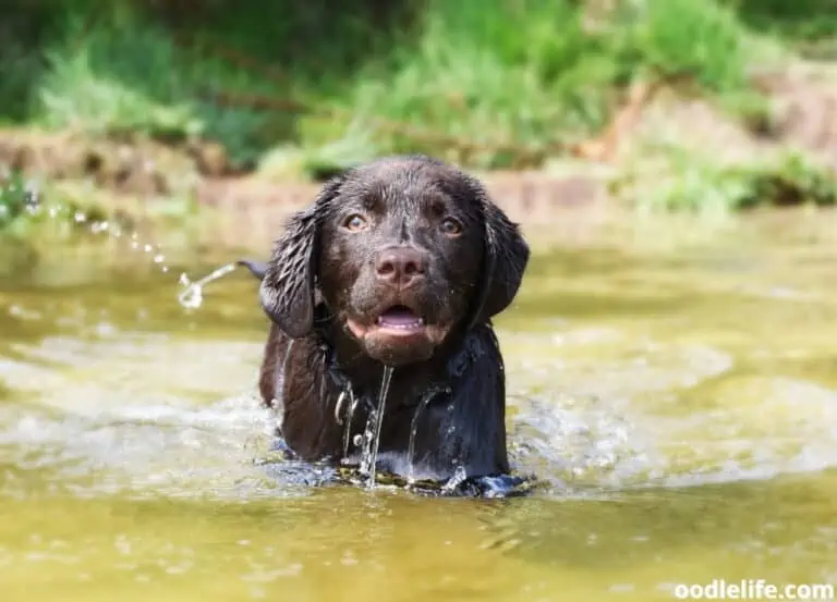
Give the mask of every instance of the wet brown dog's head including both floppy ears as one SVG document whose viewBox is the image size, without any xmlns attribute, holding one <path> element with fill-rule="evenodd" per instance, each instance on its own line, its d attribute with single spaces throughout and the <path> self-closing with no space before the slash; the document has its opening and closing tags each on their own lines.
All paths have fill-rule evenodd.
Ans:
<svg viewBox="0 0 837 602">
<path fill-rule="evenodd" d="M 260 297 L 298 339 L 313 327 L 317 292 L 366 355 L 401 366 L 502 311 L 527 260 L 517 224 L 476 180 L 426 157 L 396 157 L 332 179 L 290 219 Z"/>
</svg>

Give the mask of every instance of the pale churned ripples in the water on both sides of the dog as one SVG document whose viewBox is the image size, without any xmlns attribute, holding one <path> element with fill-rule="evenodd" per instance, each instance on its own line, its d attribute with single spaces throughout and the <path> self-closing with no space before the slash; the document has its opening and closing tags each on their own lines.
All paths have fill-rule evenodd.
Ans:
<svg viewBox="0 0 837 602">
<path fill-rule="evenodd" d="M 837 394 L 825 386 L 618 329 L 500 336 L 512 459 L 551 486 L 546 495 L 837 466 Z M 254 390 L 260 353 L 260 342 L 130 331 L 13 344 L 0 378 L 27 393 L 0 406 L 0 462 L 49 470 L 78 495 L 300 494 L 332 474 L 271 459 L 274 417 Z"/>
</svg>

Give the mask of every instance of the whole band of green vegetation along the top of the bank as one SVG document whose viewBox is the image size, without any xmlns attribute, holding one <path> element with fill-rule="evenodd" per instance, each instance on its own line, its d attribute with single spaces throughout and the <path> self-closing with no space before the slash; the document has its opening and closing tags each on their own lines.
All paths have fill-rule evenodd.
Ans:
<svg viewBox="0 0 837 602">
<path fill-rule="evenodd" d="M 233 167 L 268 174 L 400 151 L 539 167 L 601 133 L 638 79 L 687 81 L 742 123 L 763 121 L 750 69 L 837 39 L 828 4 L 19 0 L 0 25 L 0 120 L 217 140 Z M 702 187 L 726 168 L 683 168 L 689 192 L 660 191 L 655 207 L 717 196 Z M 724 191 L 738 199 L 725 205 L 748 205 Z"/>
</svg>

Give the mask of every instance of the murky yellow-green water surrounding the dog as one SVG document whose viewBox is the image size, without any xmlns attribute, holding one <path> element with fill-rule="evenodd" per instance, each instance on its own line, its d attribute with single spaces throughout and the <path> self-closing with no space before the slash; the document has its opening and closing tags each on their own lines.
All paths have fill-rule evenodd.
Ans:
<svg viewBox="0 0 837 602">
<path fill-rule="evenodd" d="M 4 273 L 0 595 L 644 601 L 712 579 L 833 583 L 836 226 L 788 216 L 683 246 L 689 229 L 664 223 L 537 257 L 498 329 L 514 462 L 545 487 L 490 502 L 316 487 L 314 468 L 258 462 L 266 323 L 244 273 L 192 312 L 174 272 L 118 245 Z"/>
</svg>

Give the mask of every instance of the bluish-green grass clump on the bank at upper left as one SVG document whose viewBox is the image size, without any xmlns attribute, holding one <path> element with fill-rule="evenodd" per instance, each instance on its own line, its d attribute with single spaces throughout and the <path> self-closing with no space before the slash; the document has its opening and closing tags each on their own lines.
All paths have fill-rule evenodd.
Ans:
<svg viewBox="0 0 837 602">
<path fill-rule="evenodd" d="M 254 76 L 218 61 L 192 63 L 158 25 L 89 26 L 83 16 L 70 15 L 63 36 L 44 50 L 47 70 L 38 85 L 36 121 L 93 135 L 174 142 L 207 136 L 222 140 L 240 160 L 265 146 L 259 137 L 267 115 L 218 111 L 198 94 L 207 85 L 264 89 Z"/>
</svg>

